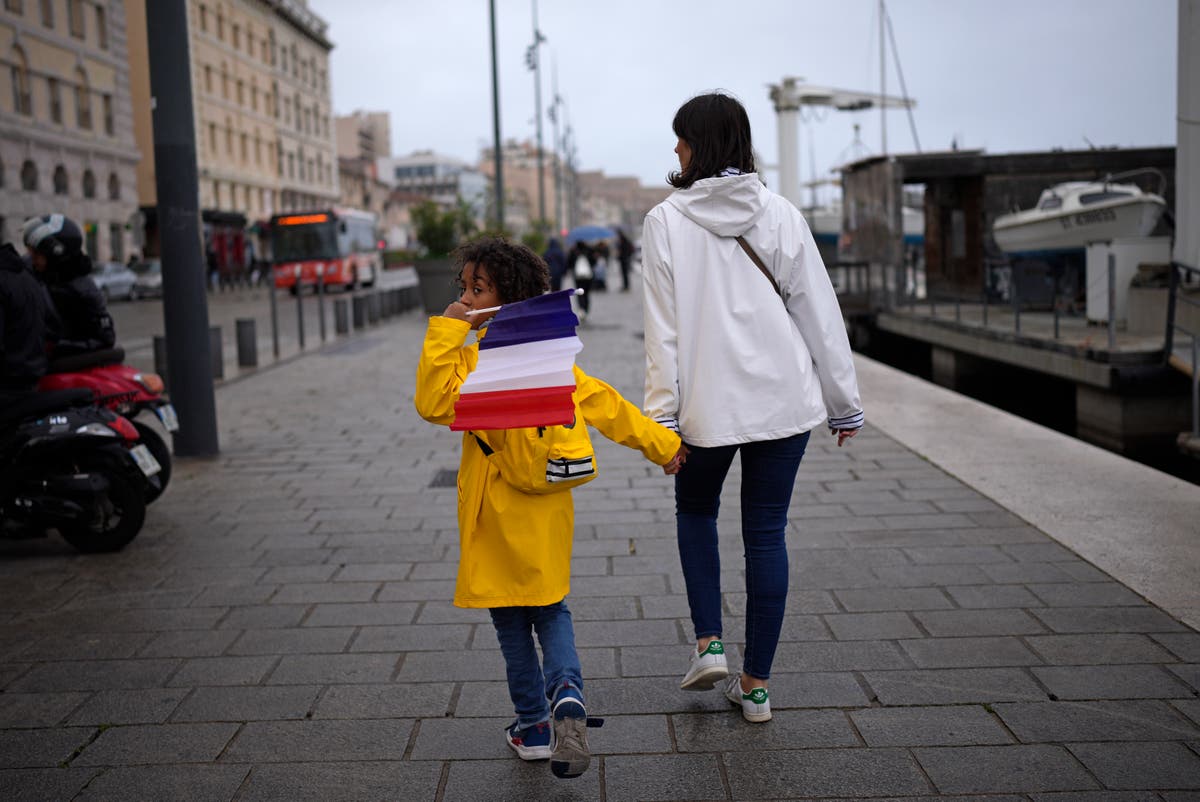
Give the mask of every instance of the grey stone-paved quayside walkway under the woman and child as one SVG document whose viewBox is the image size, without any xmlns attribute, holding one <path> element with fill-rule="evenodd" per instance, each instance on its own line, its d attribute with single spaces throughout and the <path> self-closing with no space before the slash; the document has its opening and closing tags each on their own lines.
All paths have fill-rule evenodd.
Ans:
<svg viewBox="0 0 1200 802">
<path fill-rule="evenodd" d="M 636 293 L 598 295 L 580 360 L 635 402 L 638 331 Z M 797 479 L 766 725 L 678 690 L 670 480 L 599 439 L 569 602 L 607 723 L 578 779 L 517 760 L 487 615 L 450 604 L 422 333 L 221 388 L 221 456 L 180 461 L 124 552 L 0 544 L 0 800 L 1198 798 L 1200 635 L 872 429 Z"/>
</svg>

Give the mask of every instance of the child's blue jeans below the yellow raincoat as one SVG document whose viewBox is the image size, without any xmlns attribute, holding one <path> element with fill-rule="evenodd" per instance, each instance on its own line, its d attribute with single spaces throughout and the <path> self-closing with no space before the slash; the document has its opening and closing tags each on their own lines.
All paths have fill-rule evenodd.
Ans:
<svg viewBox="0 0 1200 802">
<path fill-rule="evenodd" d="M 517 712 L 517 726 L 550 720 L 550 701 L 566 690 L 583 699 L 583 671 L 575 652 L 575 627 L 565 602 L 544 608 L 492 608 L 492 624 L 504 654 L 509 696 Z M 542 663 L 533 645 L 541 644 Z"/>
</svg>

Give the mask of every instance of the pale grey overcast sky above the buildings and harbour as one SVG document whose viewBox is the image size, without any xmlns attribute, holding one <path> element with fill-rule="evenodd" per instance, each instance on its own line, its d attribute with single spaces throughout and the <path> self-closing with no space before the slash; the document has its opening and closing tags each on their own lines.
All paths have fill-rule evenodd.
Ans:
<svg viewBox="0 0 1200 802">
<path fill-rule="evenodd" d="M 334 108 L 391 114 L 392 150 L 476 161 L 492 142 L 487 0 L 310 0 L 330 24 Z M 1174 145 L 1176 0 L 892 0 L 888 16 L 924 150 L 989 152 Z M 530 0 L 496 0 L 500 133 L 533 139 Z M 661 185 L 677 167 L 671 119 L 692 95 L 745 104 L 763 161 L 778 155 L 767 84 L 784 76 L 877 92 L 876 0 L 541 0 L 542 103 L 558 92 L 580 166 Z M 888 50 L 887 88 L 900 94 Z M 544 120 L 551 148 L 551 124 Z M 802 180 L 851 154 L 853 125 L 880 152 L 880 113 L 802 126 Z M 889 151 L 913 151 L 904 110 Z M 811 145 L 810 145 L 811 143 Z M 768 184 L 778 178 L 766 172 Z"/>
</svg>

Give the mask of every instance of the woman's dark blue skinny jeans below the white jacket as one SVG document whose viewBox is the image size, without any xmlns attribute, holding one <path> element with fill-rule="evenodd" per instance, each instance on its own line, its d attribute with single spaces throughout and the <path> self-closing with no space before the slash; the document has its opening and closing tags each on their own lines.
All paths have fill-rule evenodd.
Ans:
<svg viewBox="0 0 1200 802">
<path fill-rule="evenodd" d="M 809 433 L 784 439 L 695 448 L 676 475 L 679 563 L 696 639 L 721 636 L 721 558 L 716 511 L 721 485 L 742 451 L 742 543 L 746 571 L 746 645 L 742 671 L 770 678 L 787 603 L 787 508 Z"/>
</svg>

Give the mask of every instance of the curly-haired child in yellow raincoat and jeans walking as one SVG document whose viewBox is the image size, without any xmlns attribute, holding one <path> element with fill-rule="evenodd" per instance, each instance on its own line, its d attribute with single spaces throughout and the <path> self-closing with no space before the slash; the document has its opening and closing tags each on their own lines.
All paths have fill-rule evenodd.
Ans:
<svg viewBox="0 0 1200 802">
<path fill-rule="evenodd" d="M 479 360 L 479 346 L 467 345 L 467 336 L 490 316 L 468 312 L 534 298 L 550 288 L 546 263 L 523 245 L 480 239 L 458 249 L 455 258 L 462 295 L 443 316 L 430 318 L 416 369 L 416 411 L 434 424 L 454 421 L 460 388 Z M 479 336 L 486 336 L 486 329 Z M 678 435 L 577 366 L 575 383 L 575 401 L 588 425 L 636 448 L 664 472 L 679 471 L 684 454 Z M 505 738 L 523 760 L 548 758 L 558 777 L 577 777 L 590 760 L 583 677 L 564 602 L 574 531 L 570 491 L 533 495 L 515 489 L 475 437 L 463 435 L 454 603 L 490 610 L 517 716 Z"/>
</svg>

